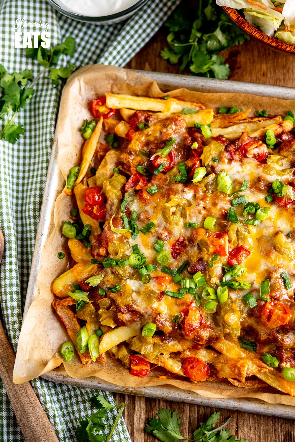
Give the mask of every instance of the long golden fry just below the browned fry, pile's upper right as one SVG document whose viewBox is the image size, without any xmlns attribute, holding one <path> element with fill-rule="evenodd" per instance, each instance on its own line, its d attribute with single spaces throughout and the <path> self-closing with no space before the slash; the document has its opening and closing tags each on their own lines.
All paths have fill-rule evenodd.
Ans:
<svg viewBox="0 0 295 442">
<path fill-rule="evenodd" d="M 226 138 L 230 140 L 235 140 L 236 138 L 241 137 L 243 132 L 248 132 L 251 137 L 259 137 L 253 131 L 264 130 L 264 126 L 269 126 L 274 123 L 276 126 L 277 123 L 280 123 L 281 117 L 275 117 L 272 120 L 264 120 L 259 123 L 257 122 L 244 122 L 235 124 L 234 126 L 220 128 L 220 127 L 212 127 L 212 136 L 217 137 L 218 135 L 224 135 Z M 266 129 L 264 133 L 266 132 Z M 254 134 L 254 135 L 253 135 Z"/>
</svg>

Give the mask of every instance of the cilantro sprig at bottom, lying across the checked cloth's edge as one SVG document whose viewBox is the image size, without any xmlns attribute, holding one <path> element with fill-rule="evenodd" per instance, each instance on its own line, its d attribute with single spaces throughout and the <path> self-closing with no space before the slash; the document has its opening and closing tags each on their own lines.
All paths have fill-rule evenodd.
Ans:
<svg viewBox="0 0 295 442">
<path fill-rule="evenodd" d="M 77 442 L 109 442 L 115 428 L 118 425 L 119 419 L 124 408 L 126 407 L 126 404 L 122 403 L 112 405 L 99 394 L 97 396 L 93 396 L 91 398 L 91 402 L 96 406 L 96 408 L 99 408 L 99 410 L 92 413 L 88 419 L 80 420 L 80 425 L 76 429 Z M 107 419 L 107 410 L 111 410 L 113 408 L 119 408 L 119 413 L 113 427 L 111 428 L 111 431 L 107 436 L 106 432 L 108 430 L 108 426 L 103 422 L 103 419 Z"/>
</svg>

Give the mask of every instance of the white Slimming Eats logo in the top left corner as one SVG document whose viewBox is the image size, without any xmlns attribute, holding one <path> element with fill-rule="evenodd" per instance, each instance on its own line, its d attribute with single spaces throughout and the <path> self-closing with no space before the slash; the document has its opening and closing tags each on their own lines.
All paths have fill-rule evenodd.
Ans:
<svg viewBox="0 0 295 442">
<path fill-rule="evenodd" d="M 41 38 L 42 48 L 49 48 L 50 46 L 50 32 L 48 28 L 50 24 L 39 21 L 29 22 L 25 19 L 16 19 L 14 29 L 15 32 L 15 48 L 38 48 L 38 40 Z M 29 31 L 25 31 L 27 29 Z"/>
</svg>

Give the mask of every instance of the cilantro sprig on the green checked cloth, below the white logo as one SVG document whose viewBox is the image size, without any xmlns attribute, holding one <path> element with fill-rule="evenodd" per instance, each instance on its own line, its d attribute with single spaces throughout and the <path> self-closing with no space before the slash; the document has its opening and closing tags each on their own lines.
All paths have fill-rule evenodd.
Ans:
<svg viewBox="0 0 295 442">
<path fill-rule="evenodd" d="M 24 134 L 25 129 L 22 124 L 16 124 L 17 114 L 26 107 L 28 100 L 34 95 L 33 86 L 43 75 L 49 71 L 49 77 L 55 85 L 61 79 L 68 78 L 75 65 L 56 68 L 59 57 L 62 54 L 73 56 L 75 50 L 75 39 L 68 37 L 60 45 L 50 46 L 49 49 L 42 48 L 41 38 L 38 40 L 38 48 L 27 48 L 27 57 L 37 60 L 44 69 L 33 80 L 33 71 L 25 69 L 22 72 L 12 72 L 11 74 L 0 65 L 0 139 L 15 144 L 19 137 Z M 31 84 L 29 83 L 31 82 Z"/>
</svg>

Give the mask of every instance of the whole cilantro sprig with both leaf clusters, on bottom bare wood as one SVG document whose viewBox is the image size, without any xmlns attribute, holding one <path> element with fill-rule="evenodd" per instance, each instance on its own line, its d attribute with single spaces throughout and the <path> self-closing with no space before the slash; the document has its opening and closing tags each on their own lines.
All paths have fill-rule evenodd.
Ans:
<svg viewBox="0 0 295 442">
<path fill-rule="evenodd" d="M 239 439 L 237 436 L 230 434 L 230 429 L 222 430 L 229 422 L 230 419 L 222 424 L 220 427 L 211 427 L 215 425 L 218 419 L 221 417 L 221 412 L 214 412 L 207 421 L 197 428 L 193 434 L 193 439 L 187 439 L 180 433 L 179 415 L 176 411 L 171 412 L 169 408 L 160 408 L 157 412 L 159 419 L 150 418 L 145 430 L 149 434 L 153 434 L 162 442 L 176 442 L 178 440 L 198 441 L 198 442 L 245 442 L 246 439 Z M 219 434 L 218 431 L 220 431 Z"/>
</svg>

